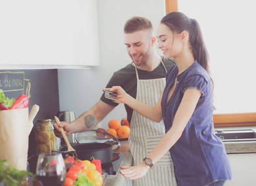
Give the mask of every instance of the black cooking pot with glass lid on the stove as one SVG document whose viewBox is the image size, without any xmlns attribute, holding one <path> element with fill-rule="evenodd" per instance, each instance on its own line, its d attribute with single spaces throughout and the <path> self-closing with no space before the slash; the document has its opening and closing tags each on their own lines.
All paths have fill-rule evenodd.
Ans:
<svg viewBox="0 0 256 186">
<path fill-rule="evenodd" d="M 110 163 L 113 161 L 113 153 L 118 151 L 120 148 L 120 142 L 119 140 L 111 135 L 110 133 L 107 133 L 105 131 L 100 130 L 90 130 L 85 131 L 84 133 L 104 133 L 105 135 L 111 136 L 111 138 L 105 138 L 105 143 L 99 143 L 97 141 L 102 141 L 103 137 L 98 138 L 96 135 L 94 136 L 95 140 L 92 143 L 79 143 L 79 141 L 75 140 L 76 143 L 71 144 L 72 148 L 75 149 L 75 152 L 77 153 L 78 159 L 81 160 L 89 160 L 91 161 L 92 156 L 94 159 L 100 159 L 102 164 Z M 80 136 L 81 133 L 77 133 L 75 135 L 75 139 L 77 139 L 77 136 Z M 85 135 L 86 136 L 86 135 Z M 90 136 L 90 140 L 92 139 L 92 135 Z M 113 141 L 115 139 L 115 141 Z M 92 140 L 91 140 L 92 141 Z M 113 149 L 113 146 L 117 144 L 117 147 Z M 64 145 L 60 148 L 60 152 L 62 153 L 62 156 L 67 156 L 67 154 L 72 154 L 72 152 L 65 152 L 67 151 L 67 145 Z"/>
</svg>

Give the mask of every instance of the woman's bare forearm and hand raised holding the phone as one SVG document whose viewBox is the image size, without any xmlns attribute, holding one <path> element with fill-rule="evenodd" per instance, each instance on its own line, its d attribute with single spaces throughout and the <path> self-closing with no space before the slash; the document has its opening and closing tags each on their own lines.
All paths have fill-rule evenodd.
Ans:
<svg viewBox="0 0 256 186">
<path fill-rule="evenodd" d="M 118 100 L 113 101 L 118 104 L 123 103 L 128 105 L 129 107 L 133 108 L 136 112 L 140 113 L 146 118 L 149 118 L 149 120 L 153 120 L 154 122 L 161 122 L 163 120 L 162 115 L 162 108 L 161 108 L 161 100 L 163 96 L 163 92 L 161 93 L 158 103 L 155 106 L 150 106 L 143 104 L 139 102 L 138 100 L 131 97 L 129 94 L 127 94 L 120 86 L 114 86 L 111 89 L 103 89 L 103 91 L 113 91 L 116 92 L 118 95 Z"/>
</svg>

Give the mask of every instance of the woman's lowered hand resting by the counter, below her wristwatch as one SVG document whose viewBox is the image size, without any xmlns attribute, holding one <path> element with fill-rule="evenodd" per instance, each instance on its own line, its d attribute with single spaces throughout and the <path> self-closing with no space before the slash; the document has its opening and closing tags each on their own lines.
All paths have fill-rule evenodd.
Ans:
<svg viewBox="0 0 256 186">
<path fill-rule="evenodd" d="M 134 167 L 126 167 L 126 166 L 121 166 L 120 167 L 121 174 L 123 174 L 124 177 L 128 177 L 131 180 L 138 179 L 140 177 L 143 177 L 149 170 L 149 166 L 145 164 L 145 162 L 141 162 L 138 164 L 138 166 Z"/>
</svg>

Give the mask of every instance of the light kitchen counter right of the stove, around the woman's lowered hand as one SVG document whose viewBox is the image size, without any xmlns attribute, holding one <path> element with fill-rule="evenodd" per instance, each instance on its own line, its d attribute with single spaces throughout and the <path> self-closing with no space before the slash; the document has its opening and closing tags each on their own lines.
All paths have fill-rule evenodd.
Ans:
<svg viewBox="0 0 256 186">
<path fill-rule="evenodd" d="M 123 162 L 121 162 L 121 166 L 130 167 L 133 163 L 133 157 L 129 151 L 128 141 L 120 141 L 120 149 L 117 153 L 125 153 L 125 157 Z M 120 185 L 131 185 L 131 180 L 124 177 L 119 171 L 116 175 L 108 175 L 105 186 L 120 186 Z"/>
</svg>

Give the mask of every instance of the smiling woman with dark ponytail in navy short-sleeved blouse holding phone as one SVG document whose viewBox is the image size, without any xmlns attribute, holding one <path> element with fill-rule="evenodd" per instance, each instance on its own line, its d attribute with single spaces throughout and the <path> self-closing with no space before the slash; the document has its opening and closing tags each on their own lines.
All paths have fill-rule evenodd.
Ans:
<svg viewBox="0 0 256 186">
<path fill-rule="evenodd" d="M 166 74 L 166 87 L 158 104 L 141 104 L 121 87 L 112 87 L 111 91 L 118 93 L 116 102 L 155 122 L 163 119 L 166 135 L 145 161 L 121 167 L 120 172 L 138 179 L 169 150 L 178 185 L 224 185 L 231 179 L 231 171 L 224 144 L 212 133 L 212 79 L 199 24 L 181 12 L 171 12 L 161 20 L 158 40 L 164 58 L 176 61 Z"/>
</svg>

